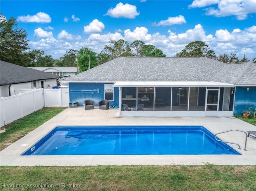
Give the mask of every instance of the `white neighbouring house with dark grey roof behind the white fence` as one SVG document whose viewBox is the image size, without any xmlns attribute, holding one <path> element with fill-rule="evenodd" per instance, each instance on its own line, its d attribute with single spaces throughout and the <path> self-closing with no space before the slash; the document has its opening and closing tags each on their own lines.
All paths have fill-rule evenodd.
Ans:
<svg viewBox="0 0 256 191">
<path fill-rule="evenodd" d="M 0 97 L 18 94 L 16 89 L 52 88 L 61 76 L 0 61 Z"/>
</svg>

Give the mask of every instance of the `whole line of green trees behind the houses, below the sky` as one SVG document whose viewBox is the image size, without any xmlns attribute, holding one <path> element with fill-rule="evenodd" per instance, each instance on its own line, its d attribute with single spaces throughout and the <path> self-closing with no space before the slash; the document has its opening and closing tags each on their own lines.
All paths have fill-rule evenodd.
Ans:
<svg viewBox="0 0 256 191">
<path fill-rule="evenodd" d="M 154 45 L 145 44 L 135 40 L 131 44 L 120 39 L 110 41 L 100 53 L 92 51 L 89 47 L 79 50 L 70 49 L 59 59 L 53 59 L 51 55 L 45 55 L 41 50 L 30 50 L 28 47 L 27 33 L 17 28 L 17 22 L 12 17 L 6 20 L 0 14 L 0 55 L 1 60 L 22 65 L 24 67 L 79 67 L 80 71 L 103 64 L 121 56 L 134 57 L 166 57 L 161 49 Z M 202 41 L 193 41 L 175 55 L 176 57 L 209 57 L 224 63 L 248 62 L 245 56 L 238 59 L 235 53 L 231 55 L 216 56 L 213 50 Z M 256 63 L 256 58 L 252 62 Z"/>
</svg>

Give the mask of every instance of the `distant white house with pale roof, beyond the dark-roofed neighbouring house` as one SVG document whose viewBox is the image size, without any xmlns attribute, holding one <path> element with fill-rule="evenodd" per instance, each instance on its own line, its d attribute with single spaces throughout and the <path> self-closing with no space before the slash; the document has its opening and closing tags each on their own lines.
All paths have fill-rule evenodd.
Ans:
<svg viewBox="0 0 256 191">
<path fill-rule="evenodd" d="M 74 76 L 80 71 L 78 67 L 28 67 L 39 71 L 59 75 L 59 76 Z"/>
</svg>

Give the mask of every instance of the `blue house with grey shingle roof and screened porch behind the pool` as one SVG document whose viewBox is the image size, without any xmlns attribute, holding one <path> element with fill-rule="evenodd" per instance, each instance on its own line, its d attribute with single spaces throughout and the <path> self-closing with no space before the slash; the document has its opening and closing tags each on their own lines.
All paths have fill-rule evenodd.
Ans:
<svg viewBox="0 0 256 191">
<path fill-rule="evenodd" d="M 118 57 L 67 81 L 70 102 L 108 99 L 120 116 L 232 116 L 256 107 L 256 63 Z"/>
</svg>

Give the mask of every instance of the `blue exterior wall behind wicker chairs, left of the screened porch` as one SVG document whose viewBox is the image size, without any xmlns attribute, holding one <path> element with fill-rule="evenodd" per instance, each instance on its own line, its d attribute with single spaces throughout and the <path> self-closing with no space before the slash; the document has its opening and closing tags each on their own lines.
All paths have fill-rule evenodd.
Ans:
<svg viewBox="0 0 256 191">
<path fill-rule="evenodd" d="M 106 83 L 69 83 L 69 101 L 78 102 L 78 106 L 84 106 L 84 100 L 92 99 L 95 101 L 95 106 L 98 106 L 98 102 L 104 99 L 104 84 Z M 81 91 L 81 90 L 93 90 L 99 89 L 92 94 L 90 91 L 86 93 L 74 93 L 72 91 Z M 119 104 L 119 92 L 118 88 L 114 88 L 114 100 L 110 101 L 109 106 Z"/>
</svg>

